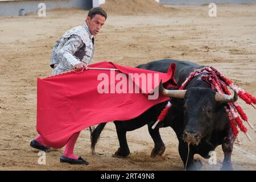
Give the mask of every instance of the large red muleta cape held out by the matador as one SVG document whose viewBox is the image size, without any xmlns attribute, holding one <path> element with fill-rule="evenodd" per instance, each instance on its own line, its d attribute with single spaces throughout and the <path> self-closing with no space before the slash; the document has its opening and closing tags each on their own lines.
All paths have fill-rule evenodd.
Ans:
<svg viewBox="0 0 256 182">
<path fill-rule="evenodd" d="M 133 119 L 150 107 L 169 100 L 169 97 L 160 93 L 158 99 L 148 100 L 147 93 L 150 93 L 154 88 L 157 89 L 160 80 L 167 87 L 177 87 L 174 79 L 175 64 L 170 66 L 167 73 L 123 67 L 111 62 L 96 63 L 90 67 L 116 68 L 118 71 L 89 69 L 82 73 L 69 72 L 43 79 L 38 78 L 36 129 L 42 135 L 47 146 L 61 148 L 65 146 L 73 133 L 86 127 L 102 122 Z M 98 80 L 98 75 L 104 73 L 110 78 L 113 77 L 113 72 L 115 76 L 118 73 L 123 73 L 126 76 L 130 73 L 146 75 L 151 73 L 153 75 L 151 79 L 152 89 L 148 89 L 147 92 L 144 90 L 146 94 L 141 92 L 100 94 L 98 85 L 102 80 Z M 156 73 L 159 75 L 157 85 L 154 84 L 154 74 Z M 112 84 L 120 83 L 121 79 L 114 79 L 113 81 L 110 78 L 109 80 L 108 86 L 110 88 Z M 126 81 L 128 83 L 128 76 Z M 138 83 L 133 79 L 133 84 L 138 85 L 139 89 L 143 90 L 141 83 L 142 81 Z"/>
</svg>

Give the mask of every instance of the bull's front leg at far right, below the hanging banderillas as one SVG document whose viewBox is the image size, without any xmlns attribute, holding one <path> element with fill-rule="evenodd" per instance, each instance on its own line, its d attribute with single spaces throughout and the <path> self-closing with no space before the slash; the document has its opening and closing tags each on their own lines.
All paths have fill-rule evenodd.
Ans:
<svg viewBox="0 0 256 182">
<path fill-rule="evenodd" d="M 231 171 L 233 170 L 231 155 L 233 151 L 233 144 L 236 137 L 231 130 L 228 131 L 228 137 L 225 137 L 222 141 L 222 150 L 224 152 L 224 160 L 221 167 L 222 171 Z"/>
</svg>

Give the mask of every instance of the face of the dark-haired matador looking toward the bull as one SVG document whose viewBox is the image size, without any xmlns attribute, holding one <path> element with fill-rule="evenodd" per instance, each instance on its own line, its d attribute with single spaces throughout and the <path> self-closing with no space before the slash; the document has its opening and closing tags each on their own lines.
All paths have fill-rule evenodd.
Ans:
<svg viewBox="0 0 256 182">
<path fill-rule="evenodd" d="M 94 15 L 93 18 L 87 16 L 86 24 L 92 35 L 97 35 L 100 32 L 101 27 L 104 25 L 106 18 L 102 15 Z"/>
</svg>

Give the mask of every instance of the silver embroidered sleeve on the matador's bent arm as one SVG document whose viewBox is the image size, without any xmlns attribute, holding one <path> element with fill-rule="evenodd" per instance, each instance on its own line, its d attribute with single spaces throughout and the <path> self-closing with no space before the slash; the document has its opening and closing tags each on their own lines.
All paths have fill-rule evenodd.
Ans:
<svg viewBox="0 0 256 182">
<path fill-rule="evenodd" d="M 81 63 L 74 55 L 82 46 L 84 46 L 84 43 L 80 36 L 72 35 L 57 54 L 60 62 L 67 65 L 67 67 L 70 67 L 70 64 L 74 66 Z"/>
</svg>

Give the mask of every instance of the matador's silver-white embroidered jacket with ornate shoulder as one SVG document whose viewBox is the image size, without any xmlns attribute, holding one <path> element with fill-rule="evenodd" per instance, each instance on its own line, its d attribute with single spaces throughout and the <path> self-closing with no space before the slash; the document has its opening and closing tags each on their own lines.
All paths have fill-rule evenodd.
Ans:
<svg viewBox="0 0 256 182">
<path fill-rule="evenodd" d="M 58 65 L 52 75 L 72 70 L 81 61 L 90 64 L 93 53 L 93 36 L 89 28 L 86 25 L 72 28 L 53 46 L 50 65 L 52 68 L 54 64 Z"/>
</svg>

